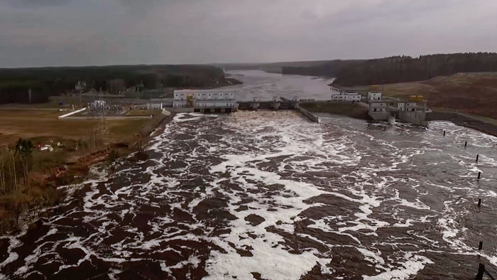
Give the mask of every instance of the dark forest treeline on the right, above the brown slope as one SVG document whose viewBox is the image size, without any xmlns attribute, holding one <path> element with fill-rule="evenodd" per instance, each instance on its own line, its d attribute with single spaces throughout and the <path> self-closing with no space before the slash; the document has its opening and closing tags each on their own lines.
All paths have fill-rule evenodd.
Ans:
<svg viewBox="0 0 497 280">
<path fill-rule="evenodd" d="M 283 68 L 283 74 L 336 77 L 337 85 L 380 85 L 429 80 L 457 72 L 497 71 L 497 53 L 393 56 L 372 60 L 333 60 L 305 68 Z"/>
</svg>

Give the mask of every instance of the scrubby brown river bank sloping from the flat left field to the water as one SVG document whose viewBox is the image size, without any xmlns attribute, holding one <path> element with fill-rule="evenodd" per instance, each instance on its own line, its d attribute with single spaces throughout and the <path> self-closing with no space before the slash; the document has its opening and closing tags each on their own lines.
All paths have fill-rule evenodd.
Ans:
<svg viewBox="0 0 497 280">
<path fill-rule="evenodd" d="M 16 173 L 11 172 L 16 171 L 16 166 L 22 166 L 22 161 L 12 157 L 11 165 L 6 168 L 5 163 L 7 162 L 2 158 L 0 165 L 2 178 L 0 235 L 30 225 L 33 220 L 38 218 L 42 212 L 40 210 L 60 203 L 65 199 L 66 194 L 59 190 L 59 187 L 82 183 L 87 179 L 90 168 L 95 164 L 105 161 L 110 163 L 136 151 L 142 151 L 143 146 L 151 139 L 153 131 L 165 126 L 173 119 L 173 116 L 172 113 L 158 114 L 143 124 L 135 136 L 104 146 L 96 146 L 93 149 L 77 149 L 77 151 L 65 150 L 37 154 L 37 157 L 31 160 L 33 161 L 31 165 L 34 166 L 33 170 L 26 171 L 26 173 L 23 170 L 23 174 L 26 176 L 22 179 L 19 176 L 16 178 Z M 3 155 L 7 154 L 3 153 Z M 43 157 L 39 158 L 40 155 Z M 53 160 L 53 157 L 58 159 Z M 140 158 L 137 156 L 136 159 Z M 43 168 L 39 166 L 43 166 Z M 50 214 L 49 212 L 43 213 L 43 215 Z"/>
</svg>

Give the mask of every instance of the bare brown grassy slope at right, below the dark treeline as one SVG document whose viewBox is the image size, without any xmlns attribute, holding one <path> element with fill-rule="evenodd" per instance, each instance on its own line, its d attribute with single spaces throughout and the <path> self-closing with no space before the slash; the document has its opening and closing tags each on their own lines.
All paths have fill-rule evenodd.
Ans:
<svg viewBox="0 0 497 280">
<path fill-rule="evenodd" d="M 423 95 L 432 109 L 497 119 L 497 72 L 384 85 L 383 92 L 388 97 Z"/>
</svg>

